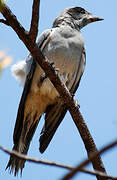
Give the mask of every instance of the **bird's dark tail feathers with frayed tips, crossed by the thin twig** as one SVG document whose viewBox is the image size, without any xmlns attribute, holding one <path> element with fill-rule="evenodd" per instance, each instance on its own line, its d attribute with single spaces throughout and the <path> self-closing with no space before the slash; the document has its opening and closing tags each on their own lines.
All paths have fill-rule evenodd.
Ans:
<svg viewBox="0 0 117 180">
<path fill-rule="evenodd" d="M 27 154 L 30 146 L 30 142 L 32 140 L 38 122 L 39 120 L 36 120 L 35 123 L 30 126 L 30 129 L 25 139 L 23 138 L 23 136 L 20 137 L 19 142 L 13 146 L 13 150 L 25 155 Z M 25 165 L 25 160 L 19 159 L 18 157 L 11 155 L 6 169 L 9 168 L 10 173 L 14 173 L 14 176 L 18 175 L 19 171 L 20 174 L 22 175 L 22 170 L 24 168 L 24 165 Z"/>
</svg>

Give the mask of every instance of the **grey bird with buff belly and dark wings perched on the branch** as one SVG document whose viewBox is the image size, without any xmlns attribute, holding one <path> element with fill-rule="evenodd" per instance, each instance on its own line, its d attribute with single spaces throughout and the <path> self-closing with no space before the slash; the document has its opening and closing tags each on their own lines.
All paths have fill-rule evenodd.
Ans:
<svg viewBox="0 0 117 180">
<path fill-rule="evenodd" d="M 65 8 L 54 20 L 52 28 L 42 32 L 37 46 L 57 69 L 61 81 L 75 94 L 86 64 L 86 52 L 81 29 L 89 23 L 101 21 L 82 7 Z M 39 150 L 43 153 L 63 120 L 67 107 L 44 70 L 31 54 L 13 65 L 12 73 L 23 86 L 23 93 L 13 133 L 13 150 L 26 155 L 44 114 Z M 18 175 L 25 160 L 10 155 L 6 169 Z"/>
</svg>

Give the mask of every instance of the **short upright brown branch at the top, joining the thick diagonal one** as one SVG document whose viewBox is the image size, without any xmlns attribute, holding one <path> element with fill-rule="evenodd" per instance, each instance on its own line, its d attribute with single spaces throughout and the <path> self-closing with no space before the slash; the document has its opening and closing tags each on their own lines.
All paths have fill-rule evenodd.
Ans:
<svg viewBox="0 0 117 180">
<path fill-rule="evenodd" d="M 30 31 L 29 31 L 29 35 L 31 36 L 31 39 L 33 42 L 36 41 L 36 37 L 38 34 L 39 5 L 40 5 L 40 0 L 33 1 L 32 20 L 31 20 L 31 26 L 30 26 Z"/>
</svg>

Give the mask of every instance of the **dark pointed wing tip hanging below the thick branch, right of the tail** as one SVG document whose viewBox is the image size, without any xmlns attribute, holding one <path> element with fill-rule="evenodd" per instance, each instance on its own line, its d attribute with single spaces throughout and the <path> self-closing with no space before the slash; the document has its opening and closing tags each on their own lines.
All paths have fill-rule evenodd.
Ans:
<svg viewBox="0 0 117 180">
<path fill-rule="evenodd" d="M 40 152 L 43 153 L 48 147 L 52 137 L 54 136 L 58 126 L 63 120 L 67 112 L 66 106 L 62 103 L 57 103 L 48 106 L 45 115 L 45 125 L 40 136 Z"/>
</svg>

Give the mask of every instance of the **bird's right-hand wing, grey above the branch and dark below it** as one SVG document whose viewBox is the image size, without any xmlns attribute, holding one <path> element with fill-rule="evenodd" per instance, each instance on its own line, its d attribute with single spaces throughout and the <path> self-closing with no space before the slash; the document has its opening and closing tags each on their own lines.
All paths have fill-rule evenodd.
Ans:
<svg viewBox="0 0 117 180">
<path fill-rule="evenodd" d="M 80 79 L 84 72 L 85 67 L 85 49 L 82 51 L 80 63 L 77 67 L 77 72 L 74 81 L 69 89 L 72 94 L 74 94 L 79 86 Z M 68 84 L 69 86 L 69 84 Z M 43 153 L 48 147 L 52 137 L 54 136 L 58 126 L 62 122 L 65 114 L 67 112 L 66 105 L 59 98 L 56 104 L 48 106 L 45 112 L 45 124 L 41 132 L 40 137 L 40 152 Z"/>
</svg>

